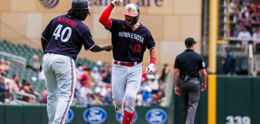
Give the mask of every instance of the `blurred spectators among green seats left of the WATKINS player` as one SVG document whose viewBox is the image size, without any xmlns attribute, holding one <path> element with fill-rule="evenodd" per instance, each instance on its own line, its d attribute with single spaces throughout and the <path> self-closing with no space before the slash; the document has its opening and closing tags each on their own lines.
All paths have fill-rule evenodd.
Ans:
<svg viewBox="0 0 260 124">
<path fill-rule="evenodd" d="M 36 61 L 39 60 L 39 57 L 37 55 L 34 55 L 33 59 L 34 63 L 32 63 L 32 68 L 34 68 L 35 71 L 40 70 L 40 65 L 38 66 L 37 64 L 35 64 Z M 41 94 L 34 90 L 28 79 L 22 79 L 21 83 L 18 74 L 12 75 L 12 79 L 9 79 L 7 77 L 7 74 L 10 72 L 10 70 L 11 61 L 0 59 L 0 103 L 15 104 L 16 101 L 14 101 L 13 99 L 15 91 L 35 95 L 36 97 L 41 98 Z M 21 100 L 28 103 L 39 103 L 36 101 L 37 99 L 33 99 L 32 97 L 28 96 L 22 96 Z"/>
</svg>

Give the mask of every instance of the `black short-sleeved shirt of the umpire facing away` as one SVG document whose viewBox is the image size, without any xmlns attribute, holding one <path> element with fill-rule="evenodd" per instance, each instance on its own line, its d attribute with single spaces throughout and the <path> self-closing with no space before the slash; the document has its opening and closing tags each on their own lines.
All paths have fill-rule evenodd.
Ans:
<svg viewBox="0 0 260 124">
<path fill-rule="evenodd" d="M 180 70 L 180 77 L 186 74 L 199 78 L 199 70 L 205 68 L 203 57 L 191 49 L 185 50 L 175 59 L 174 68 Z"/>
</svg>

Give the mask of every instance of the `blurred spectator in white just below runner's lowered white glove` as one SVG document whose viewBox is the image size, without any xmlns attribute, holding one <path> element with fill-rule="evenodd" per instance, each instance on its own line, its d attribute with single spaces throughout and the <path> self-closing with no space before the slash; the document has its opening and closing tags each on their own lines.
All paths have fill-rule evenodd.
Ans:
<svg viewBox="0 0 260 124">
<path fill-rule="evenodd" d="M 159 78 L 160 75 L 156 72 L 157 69 L 155 69 L 155 73 L 153 75 L 146 75 L 146 78 L 148 79 L 147 84 L 152 88 L 152 94 L 157 94 L 159 91 Z"/>
</svg>

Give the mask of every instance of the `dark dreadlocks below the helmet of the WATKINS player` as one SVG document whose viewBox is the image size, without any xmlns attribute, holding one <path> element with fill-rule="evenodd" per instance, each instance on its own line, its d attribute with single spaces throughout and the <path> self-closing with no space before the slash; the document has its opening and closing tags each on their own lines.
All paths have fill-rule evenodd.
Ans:
<svg viewBox="0 0 260 124">
<path fill-rule="evenodd" d="M 87 16 L 88 15 L 90 16 L 91 14 L 88 11 L 88 9 L 84 9 L 84 10 L 70 9 L 68 11 L 68 14 L 66 14 L 66 15 L 70 16 L 70 18 L 84 21 L 84 20 L 86 20 Z"/>
</svg>

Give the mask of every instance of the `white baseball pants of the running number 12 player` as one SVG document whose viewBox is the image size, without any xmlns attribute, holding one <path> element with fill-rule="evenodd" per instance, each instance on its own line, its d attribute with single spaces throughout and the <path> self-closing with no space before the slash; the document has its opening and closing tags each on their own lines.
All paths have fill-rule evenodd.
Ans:
<svg viewBox="0 0 260 124">
<path fill-rule="evenodd" d="M 142 79 L 142 64 L 134 64 L 132 67 L 127 67 L 114 64 L 112 69 L 112 94 L 113 102 L 116 105 L 122 104 L 126 99 L 125 110 L 129 113 L 135 112 L 136 94 Z"/>
</svg>

